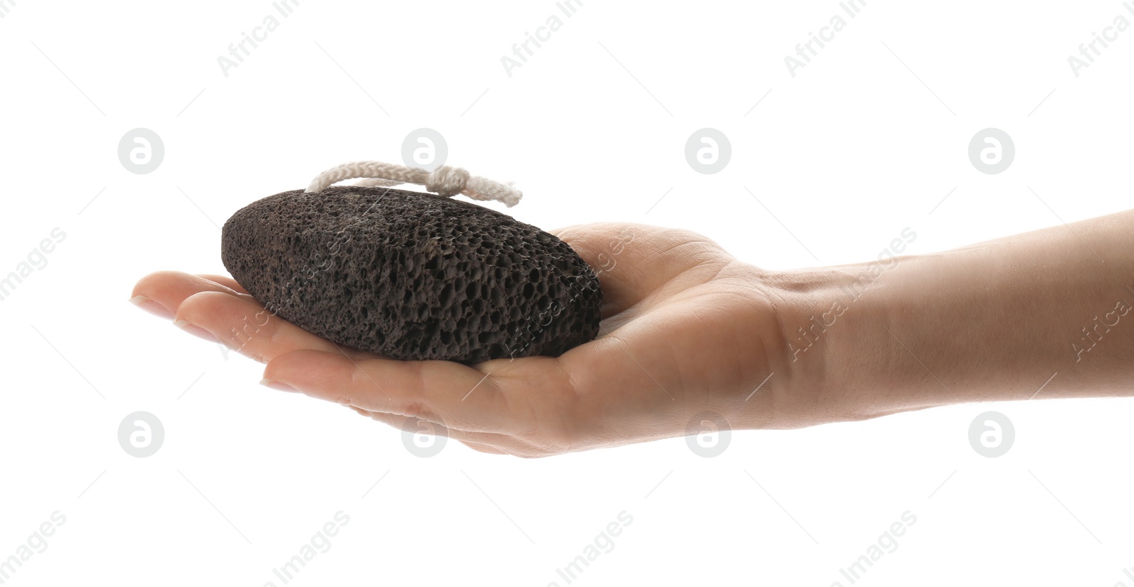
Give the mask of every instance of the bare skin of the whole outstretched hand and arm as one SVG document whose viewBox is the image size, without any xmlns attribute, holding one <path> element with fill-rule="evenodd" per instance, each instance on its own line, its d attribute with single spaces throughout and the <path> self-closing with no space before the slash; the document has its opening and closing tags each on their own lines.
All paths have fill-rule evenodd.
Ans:
<svg viewBox="0 0 1134 587">
<path fill-rule="evenodd" d="M 518 457 L 684 436 L 706 412 L 733 429 L 797 428 L 1134 394 L 1134 312 L 1116 310 L 1134 304 L 1134 211 L 902 256 L 853 300 L 869 263 L 772 272 L 684 230 L 552 232 L 595 269 L 604 297 L 599 337 L 557 358 L 392 360 L 303 331 L 221 275 L 152 273 L 133 301 L 264 363 L 268 386 Z M 1097 315 L 1118 323 L 1086 340 Z M 801 339 L 813 316 L 829 325 Z"/>
</svg>

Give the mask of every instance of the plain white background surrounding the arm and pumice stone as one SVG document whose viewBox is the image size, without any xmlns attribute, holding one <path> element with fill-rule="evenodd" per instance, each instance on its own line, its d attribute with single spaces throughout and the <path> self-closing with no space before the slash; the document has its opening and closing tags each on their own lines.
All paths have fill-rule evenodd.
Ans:
<svg viewBox="0 0 1134 587">
<path fill-rule="evenodd" d="M 905 227 L 920 254 L 1120 211 L 1134 32 L 1078 77 L 1067 62 L 1134 19 L 1117 0 L 871 1 L 795 77 L 784 58 L 836 2 L 586 0 L 510 77 L 501 57 L 553 2 L 305 0 L 227 77 L 217 58 L 266 0 L 5 6 L 0 274 L 67 235 L 0 303 L 0 558 L 67 518 L 6 585 L 282 585 L 272 569 L 340 510 L 291 585 L 566 585 L 556 569 L 624 510 L 575 584 L 849 585 L 839 569 L 908 510 L 860 585 L 1134 585 L 1129 400 L 735 432 L 713 459 L 684 439 L 422 459 L 127 303 L 151 271 L 222 272 L 217 226 L 239 207 L 398 162 L 418 127 L 516 181 L 522 221 L 683 227 L 769 269 L 869 261 Z M 166 145 L 149 175 L 118 160 L 136 127 Z M 731 143 L 717 175 L 685 161 L 702 127 Z M 968 161 L 985 127 L 1016 145 L 999 175 Z M 967 441 L 987 409 L 1015 423 L 1000 458 Z M 166 428 L 145 459 L 117 442 L 137 410 Z"/>
</svg>

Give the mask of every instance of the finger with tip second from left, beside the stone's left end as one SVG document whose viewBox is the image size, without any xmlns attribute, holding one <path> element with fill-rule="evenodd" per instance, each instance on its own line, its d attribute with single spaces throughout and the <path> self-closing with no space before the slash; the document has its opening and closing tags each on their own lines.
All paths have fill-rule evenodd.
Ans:
<svg viewBox="0 0 1134 587">
<path fill-rule="evenodd" d="M 346 347 L 340 350 L 333 342 L 272 314 L 248 296 L 221 291 L 194 294 L 178 306 L 176 317 L 175 324 L 181 329 L 189 332 L 203 329 L 228 348 L 261 363 L 302 349 L 358 358 L 376 356 Z"/>
</svg>

